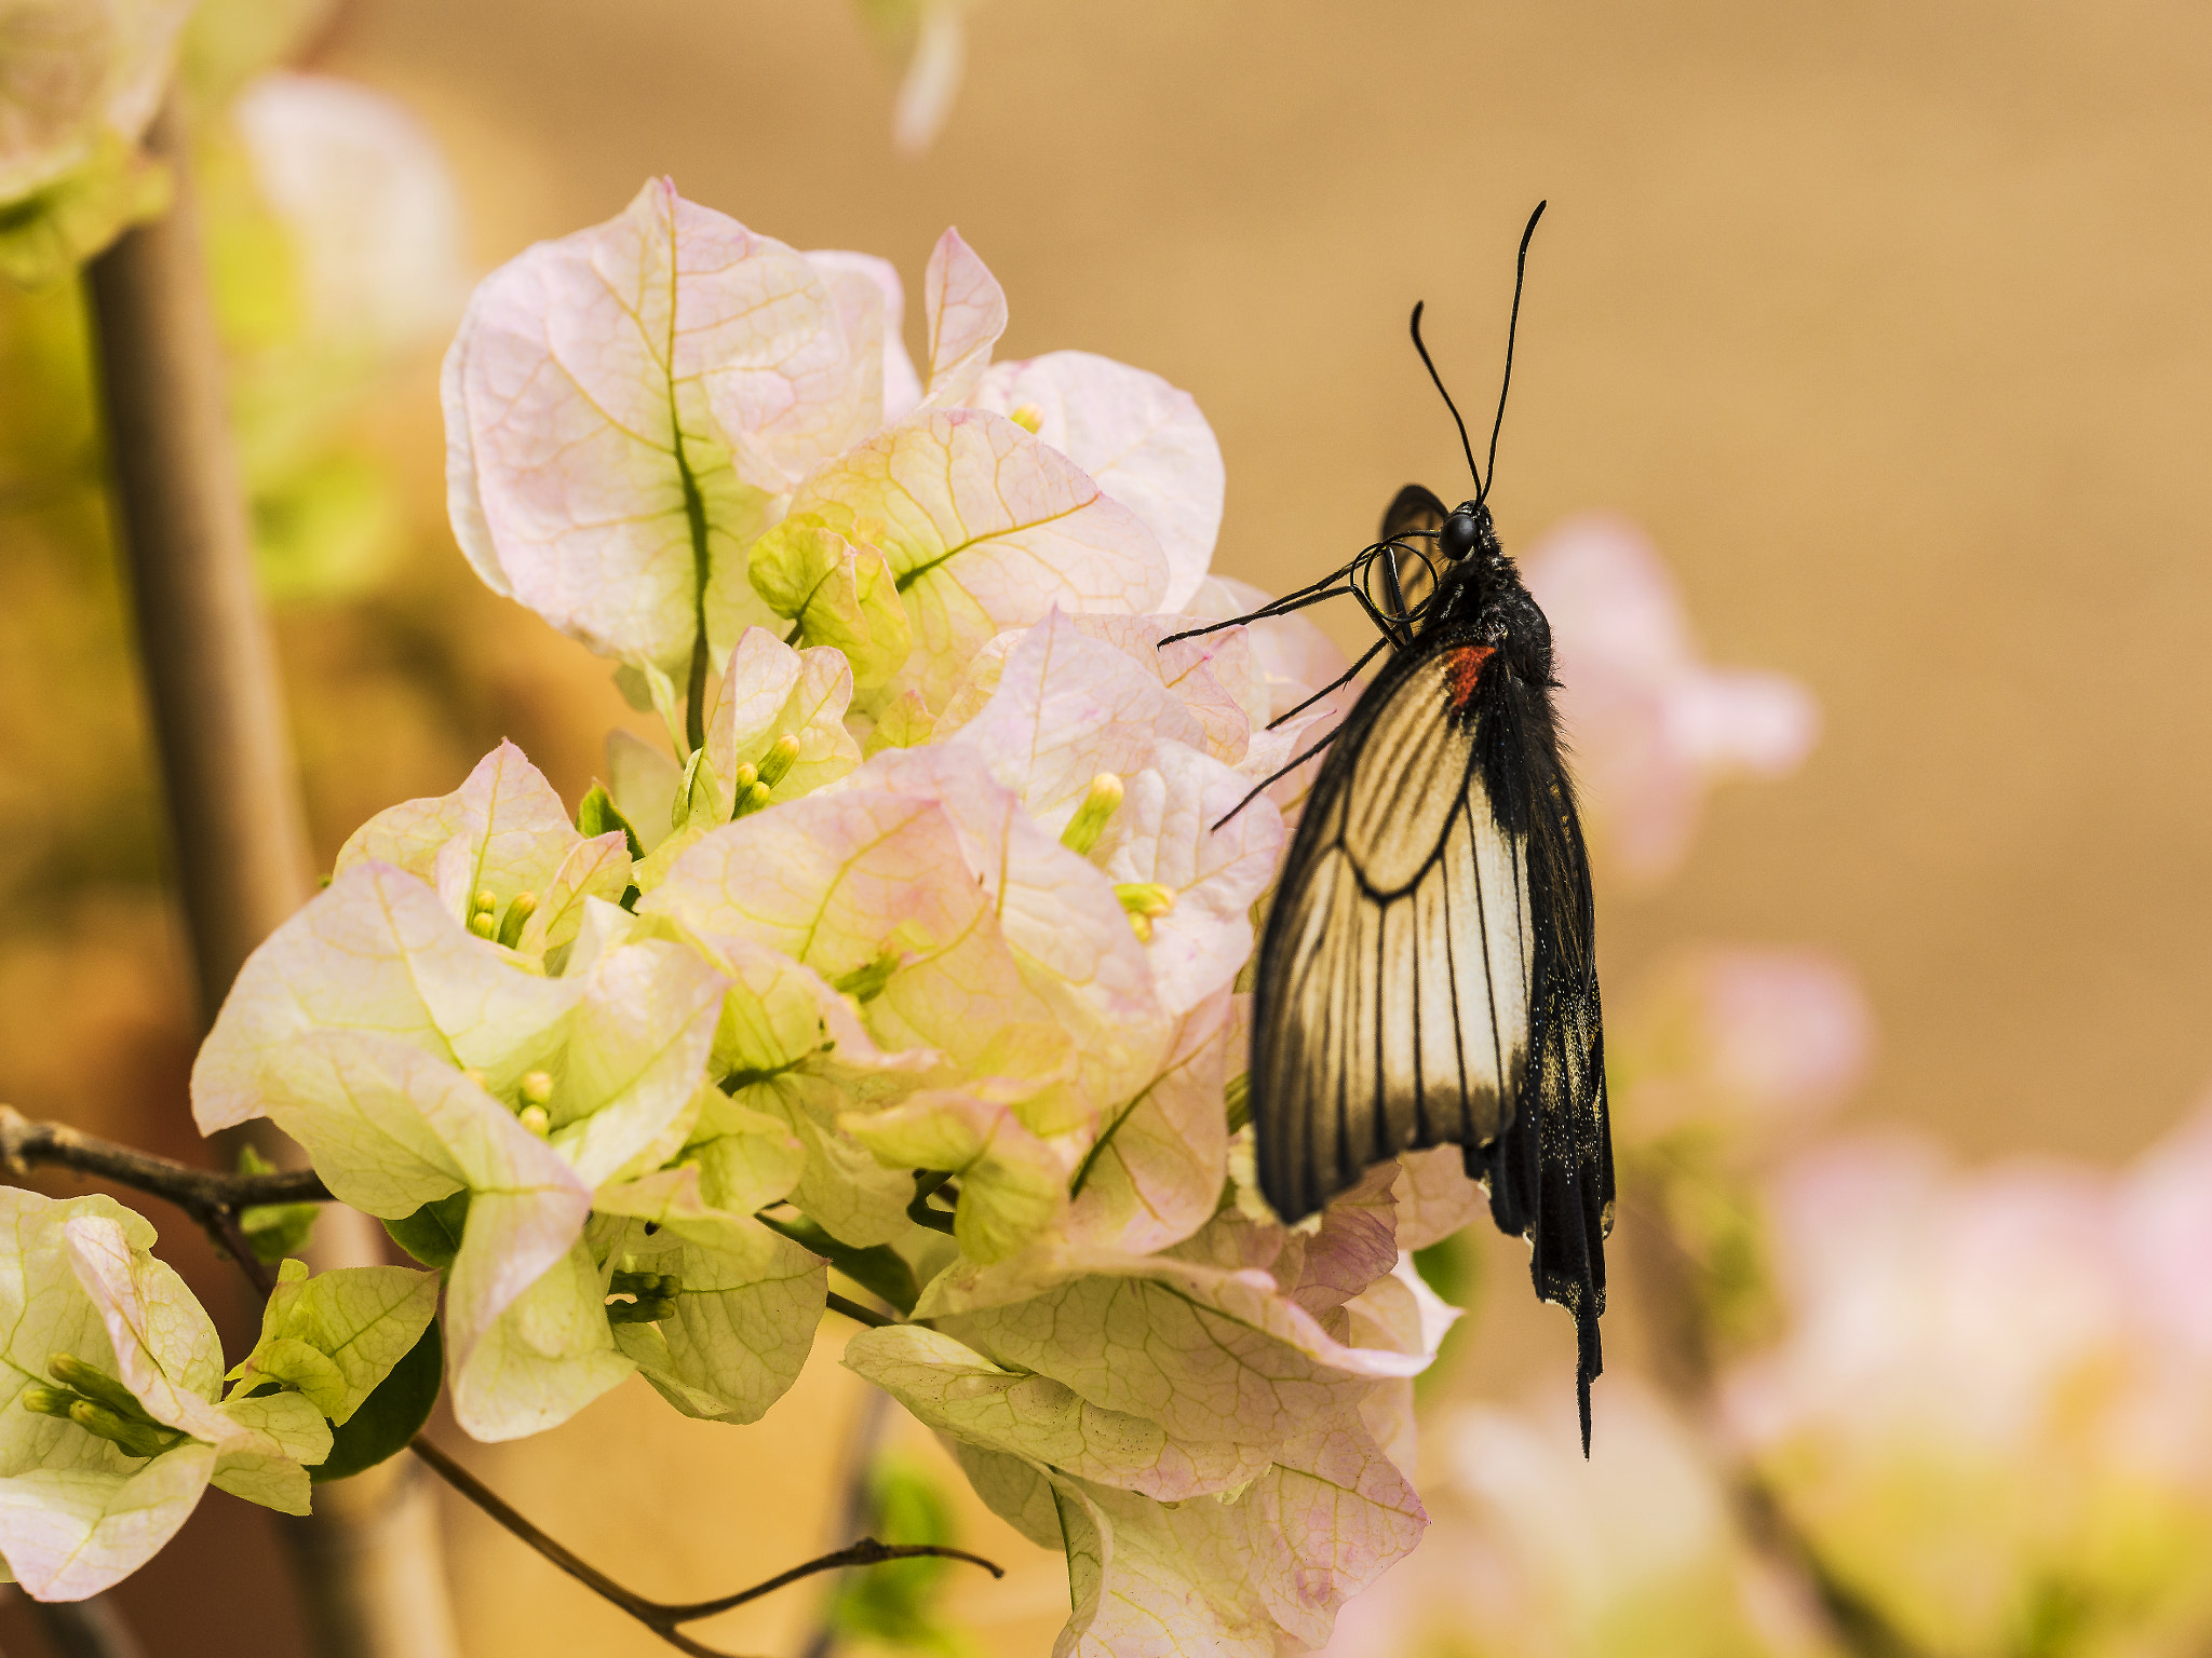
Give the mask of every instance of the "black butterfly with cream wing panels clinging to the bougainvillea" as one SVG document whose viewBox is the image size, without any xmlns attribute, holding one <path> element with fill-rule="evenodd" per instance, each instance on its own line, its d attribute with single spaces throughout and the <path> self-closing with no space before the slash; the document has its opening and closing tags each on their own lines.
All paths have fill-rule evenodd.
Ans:
<svg viewBox="0 0 2212 1658">
<path fill-rule="evenodd" d="M 1520 283 L 1513 309 L 1517 325 Z M 1418 305 L 1413 345 L 1429 363 Z M 1509 332 L 1509 382 L 1511 363 Z M 1613 1227 L 1590 862 L 1551 626 L 1498 542 L 1464 422 L 1460 442 L 1473 500 L 1447 511 L 1407 484 L 1380 542 L 1261 612 L 1352 595 L 1383 630 L 1363 663 L 1396 654 L 1325 743 L 1267 913 L 1248 1083 L 1259 1183 L 1298 1220 L 1398 1152 L 1464 1147 L 1491 1218 L 1533 1249 L 1537 1295 L 1575 1315 L 1588 1450 Z"/>
</svg>

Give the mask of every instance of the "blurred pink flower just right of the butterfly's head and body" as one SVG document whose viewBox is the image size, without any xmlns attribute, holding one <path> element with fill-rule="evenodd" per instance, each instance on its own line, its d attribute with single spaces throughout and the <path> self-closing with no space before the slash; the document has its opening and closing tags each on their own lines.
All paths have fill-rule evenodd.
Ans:
<svg viewBox="0 0 2212 1658">
<path fill-rule="evenodd" d="M 1820 730 L 1794 679 L 1705 668 L 1657 548 L 1617 517 L 1573 517 L 1524 559 L 1551 621 L 1559 707 L 1601 844 L 1637 880 L 1690 847 L 1705 785 L 1785 776 Z"/>
</svg>

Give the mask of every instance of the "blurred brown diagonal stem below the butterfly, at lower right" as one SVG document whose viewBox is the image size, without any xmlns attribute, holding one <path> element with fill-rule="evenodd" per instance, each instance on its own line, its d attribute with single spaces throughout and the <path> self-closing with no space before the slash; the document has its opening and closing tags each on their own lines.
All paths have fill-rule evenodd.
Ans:
<svg viewBox="0 0 2212 1658">
<path fill-rule="evenodd" d="M 1621 1222 L 1615 1238 L 1628 1245 L 1635 1260 L 1637 1289 L 1655 1337 L 1655 1375 L 1692 1421 L 1703 1426 L 1745 1539 L 1767 1565 L 1805 1587 L 1807 1598 L 1825 1614 L 1838 1647 L 1858 1658 L 1924 1658 L 1880 1607 L 1829 1572 L 1812 1539 L 1759 1470 L 1721 1448 L 1721 1435 L 1714 1430 L 1717 1340 L 1699 1289 L 1699 1262 L 1668 1225 L 1663 1178 L 1624 1183 Z"/>
</svg>

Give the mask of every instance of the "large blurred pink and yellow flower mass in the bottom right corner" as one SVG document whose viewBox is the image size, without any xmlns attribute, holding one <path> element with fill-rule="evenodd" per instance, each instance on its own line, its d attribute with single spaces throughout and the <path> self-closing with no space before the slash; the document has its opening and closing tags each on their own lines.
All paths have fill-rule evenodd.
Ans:
<svg viewBox="0 0 2212 1658">
<path fill-rule="evenodd" d="M 1774 1183 L 1790 1335 L 1725 1388 L 1829 1567 L 1927 1651 L 2212 1631 L 2212 1116 L 2112 1176 L 1829 1145 Z"/>
</svg>

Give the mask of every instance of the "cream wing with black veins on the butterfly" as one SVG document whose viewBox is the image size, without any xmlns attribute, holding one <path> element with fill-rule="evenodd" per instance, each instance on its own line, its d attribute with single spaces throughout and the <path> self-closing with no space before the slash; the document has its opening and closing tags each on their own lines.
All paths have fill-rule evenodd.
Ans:
<svg viewBox="0 0 2212 1658">
<path fill-rule="evenodd" d="M 1480 663 L 1480 652 L 1478 652 Z M 1261 1187 L 1285 1218 L 1416 1145 L 1480 1147 L 1528 1068 L 1526 836 L 1498 822 L 1467 648 L 1394 663 L 1314 785 L 1259 968 Z"/>
</svg>

